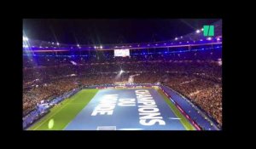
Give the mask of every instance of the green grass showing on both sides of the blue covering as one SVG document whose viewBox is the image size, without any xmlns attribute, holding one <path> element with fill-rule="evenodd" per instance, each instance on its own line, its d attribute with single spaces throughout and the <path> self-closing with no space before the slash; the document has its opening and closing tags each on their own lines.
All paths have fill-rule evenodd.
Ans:
<svg viewBox="0 0 256 149">
<path fill-rule="evenodd" d="M 96 95 L 99 89 L 83 89 L 76 95 L 73 95 L 70 99 L 63 100 L 61 105 L 57 105 L 50 109 L 50 112 L 34 123 L 27 130 L 62 130 L 65 129 L 68 123 L 70 123 L 74 117 L 76 117 L 80 111 L 86 106 L 90 100 Z M 195 127 L 189 123 L 189 120 L 178 111 L 177 107 L 171 100 L 160 90 L 156 89 L 162 98 L 170 106 L 170 110 L 174 114 L 181 118 L 180 121 L 187 130 L 195 130 Z"/>
</svg>

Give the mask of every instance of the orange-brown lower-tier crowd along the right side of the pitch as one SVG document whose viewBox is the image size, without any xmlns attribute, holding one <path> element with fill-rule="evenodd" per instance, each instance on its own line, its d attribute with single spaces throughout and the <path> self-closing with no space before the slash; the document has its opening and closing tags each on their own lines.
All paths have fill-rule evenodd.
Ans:
<svg viewBox="0 0 256 149">
<path fill-rule="evenodd" d="M 222 124 L 222 84 L 183 73 L 144 73 L 135 83 L 163 83 L 186 96 Z"/>
</svg>

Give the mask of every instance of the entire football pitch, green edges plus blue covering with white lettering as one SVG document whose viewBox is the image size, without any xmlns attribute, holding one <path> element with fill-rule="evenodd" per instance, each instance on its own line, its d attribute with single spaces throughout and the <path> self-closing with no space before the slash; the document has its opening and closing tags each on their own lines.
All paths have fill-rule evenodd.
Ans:
<svg viewBox="0 0 256 149">
<path fill-rule="evenodd" d="M 27 130 L 195 130 L 160 89 L 82 89 Z"/>
</svg>

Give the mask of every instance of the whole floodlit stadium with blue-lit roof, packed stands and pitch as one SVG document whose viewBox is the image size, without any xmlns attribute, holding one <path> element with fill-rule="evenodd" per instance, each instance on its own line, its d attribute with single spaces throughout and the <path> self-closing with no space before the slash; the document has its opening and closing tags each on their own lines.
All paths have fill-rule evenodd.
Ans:
<svg viewBox="0 0 256 149">
<path fill-rule="evenodd" d="M 63 43 L 23 30 L 24 130 L 222 129 L 222 20 L 148 42 Z"/>
</svg>

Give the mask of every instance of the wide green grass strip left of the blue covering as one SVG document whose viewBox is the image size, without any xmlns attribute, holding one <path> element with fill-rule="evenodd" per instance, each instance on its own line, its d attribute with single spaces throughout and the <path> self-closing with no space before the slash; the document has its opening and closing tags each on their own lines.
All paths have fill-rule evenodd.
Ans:
<svg viewBox="0 0 256 149">
<path fill-rule="evenodd" d="M 98 89 L 83 89 L 70 99 L 62 101 L 61 105 L 50 109 L 50 112 L 34 123 L 28 130 L 61 130 L 88 104 L 96 95 Z M 81 98 L 82 97 L 82 98 Z M 49 123 L 50 122 L 50 123 Z"/>
</svg>

